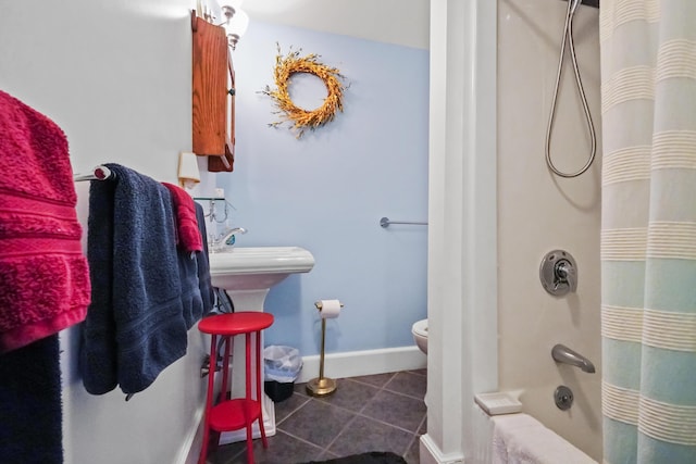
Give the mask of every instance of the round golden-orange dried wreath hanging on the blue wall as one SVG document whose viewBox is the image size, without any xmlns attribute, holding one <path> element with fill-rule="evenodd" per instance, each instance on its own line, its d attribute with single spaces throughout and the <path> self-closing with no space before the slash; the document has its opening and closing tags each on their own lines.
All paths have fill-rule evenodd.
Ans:
<svg viewBox="0 0 696 464">
<path fill-rule="evenodd" d="M 302 137 L 306 129 L 314 130 L 333 121 L 338 111 L 344 111 L 343 98 L 346 89 L 341 83 L 344 76 L 340 71 L 320 63 L 320 55 L 315 53 L 300 57 L 300 52 L 301 49 L 293 51 L 290 48 L 287 55 L 283 57 L 278 45 L 278 54 L 275 57 L 273 73 L 277 88 L 272 90 L 269 86 L 265 86 L 265 89 L 260 91 L 271 97 L 278 108 L 278 111 L 274 114 L 283 114 L 281 121 L 270 123 L 269 127 L 278 127 L 289 121 L 293 123 L 289 129 L 297 133 L 296 138 L 298 139 Z M 290 78 L 297 73 L 313 74 L 322 79 L 324 86 L 326 86 L 327 96 L 321 106 L 310 111 L 299 108 L 293 102 L 288 87 Z"/>
</svg>

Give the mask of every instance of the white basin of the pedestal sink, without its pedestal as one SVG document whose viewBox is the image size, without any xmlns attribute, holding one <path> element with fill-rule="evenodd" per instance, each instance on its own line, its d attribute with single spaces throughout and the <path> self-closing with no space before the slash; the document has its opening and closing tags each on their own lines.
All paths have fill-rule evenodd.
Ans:
<svg viewBox="0 0 696 464">
<path fill-rule="evenodd" d="M 290 274 L 312 267 L 314 256 L 300 247 L 229 247 L 210 254 L 212 285 L 225 290 L 268 292 Z"/>
</svg>

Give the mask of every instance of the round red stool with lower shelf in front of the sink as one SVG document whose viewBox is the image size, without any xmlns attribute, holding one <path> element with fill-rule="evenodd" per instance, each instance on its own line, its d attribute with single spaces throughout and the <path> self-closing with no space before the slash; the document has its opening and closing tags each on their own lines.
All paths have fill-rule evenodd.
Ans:
<svg viewBox="0 0 696 464">
<path fill-rule="evenodd" d="M 203 444 L 200 451 L 199 464 L 206 463 L 210 430 L 216 432 L 247 429 L 247 462 L 253 464 L 253 446 L 251 441 L 251 425 L 259 421 L 263 448 L 269 447 L 263 428 L 261 414 L 261 330 L 271 327 L 273 315 L 263 312 L 246 311 L 231 314 L 220 314 L 203 318 L 198 323 L 198 329 L 210 334 L 210 371 L 208 375 L 208 398 L 206 400 L 206 418 Z M 229 351 L 232 338 L 245 335 L 246 340 L 246 396 L 245 398 L 227 399 L 227 381 L 229 377 Z M 251 335 L 256 334 L 256 372 L 253 373 L 254 390 L 252 391 L 251 373 Z M 213 405 L 214 374 L 216 364 L 217 337 L 225 340 L 225 355 L 222 363 L 222 390 L 220 399 Z"/>
</svg>

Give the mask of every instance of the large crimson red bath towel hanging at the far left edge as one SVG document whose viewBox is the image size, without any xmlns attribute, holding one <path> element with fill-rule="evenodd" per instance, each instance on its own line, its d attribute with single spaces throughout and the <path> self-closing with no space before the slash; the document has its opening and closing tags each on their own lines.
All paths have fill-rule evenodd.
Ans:
<svg viewBox="0 0 696 464">
<path fill-rule="evenodd" d="M 67 139 L 0 91 L 0 353 L 85 318 L 89 269 Z"/>
</svg>

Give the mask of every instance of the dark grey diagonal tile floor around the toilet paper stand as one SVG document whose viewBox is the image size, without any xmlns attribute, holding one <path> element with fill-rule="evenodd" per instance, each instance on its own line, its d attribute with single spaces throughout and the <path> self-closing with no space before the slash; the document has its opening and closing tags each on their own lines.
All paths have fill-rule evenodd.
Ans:
<svg viewBox="0 0 696 464">
<path fill-rule="evenodd" d="M 332 396 L 313 398 L 304 384 L 275 403 L 276 434 L 269 448 L 254 440 L 257 463 L 293 464 L 366 451 L 391 451 L 419 464 L 419 437 L 425 432 L 426 372 L 403 371 L 338 379 Z M 210 464 L 246 463 L 245 442 L 220 447 Z"/>
</svg>

